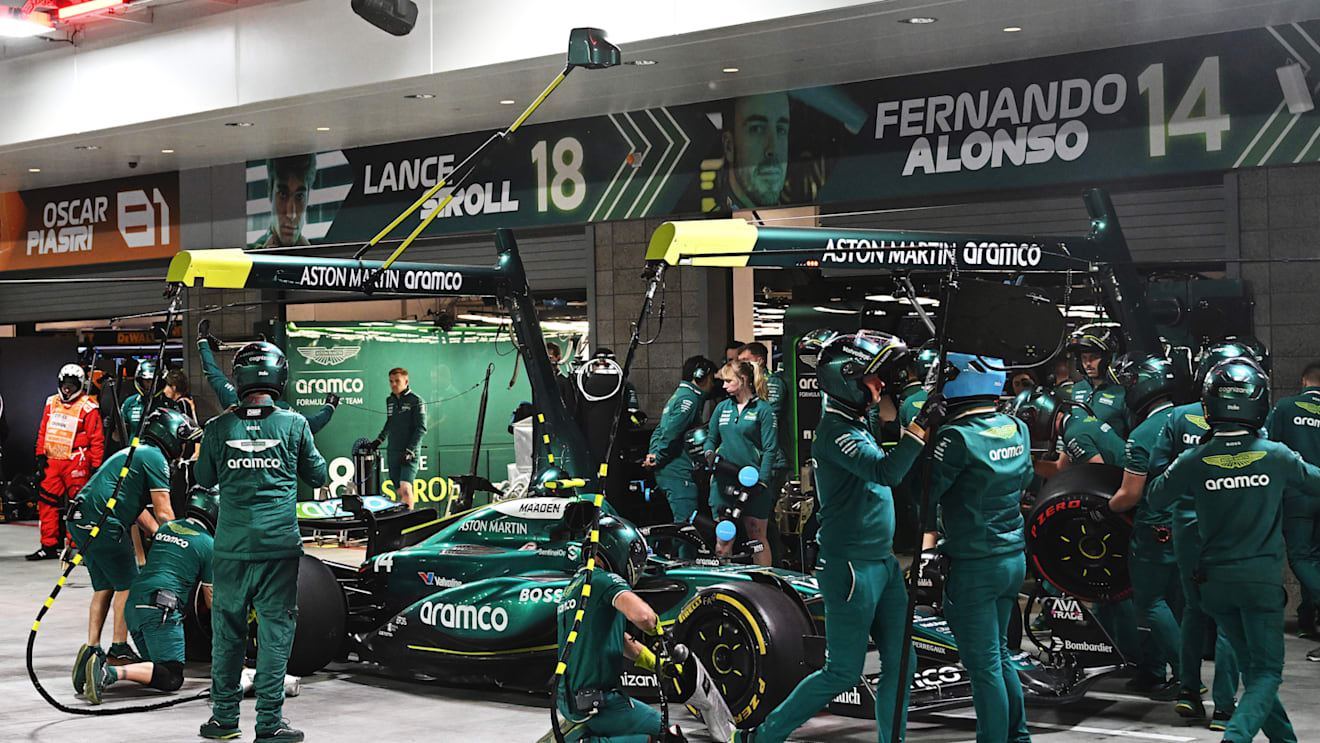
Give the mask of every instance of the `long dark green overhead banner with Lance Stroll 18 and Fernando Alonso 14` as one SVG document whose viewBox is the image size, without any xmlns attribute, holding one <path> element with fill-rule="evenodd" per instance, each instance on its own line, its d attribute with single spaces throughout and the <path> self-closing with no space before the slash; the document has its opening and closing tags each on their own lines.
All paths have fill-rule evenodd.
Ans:
<svg viewBox="0 0 1320 743">
<path fill-rule="evenodd" d="M 1290 61 L 1320 69 L 1320 21 L 528 125 L 426 234 L 1316 161 Z M 248 242 L 370 239 L 488 136 L 249 162 Z"/>
</svg>

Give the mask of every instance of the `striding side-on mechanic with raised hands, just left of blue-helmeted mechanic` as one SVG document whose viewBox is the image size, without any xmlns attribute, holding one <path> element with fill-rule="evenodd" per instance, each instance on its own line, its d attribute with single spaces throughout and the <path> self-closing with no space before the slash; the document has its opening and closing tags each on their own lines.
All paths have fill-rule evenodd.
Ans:
<svg viewBox="0 0 1320 743">
<path fill-rule="evenodd" d="M 907 346 L 884 333 L 859 330 L 825 343 L 816 362 L 824 412 L 812 454 L 820 498 L 821 545 L 816 578 L 825 600 L 825 666 L 804 678 L 756 728 L 738 731 L 735 742 L 781 743 L 841 692 L 857 685 L 867 640 L 879 649 L 875 721 L 888 743 L 894 706 L 903 694 L 900 728 L 907 726 L 911 677 L 899 678 L 907 589 L 894 557 L 894 500 L 898 484 L 921 453 L 923 425 L 937 424 L 939 404 L 904 429 L 888 454 L 866 425 L 866 408 L 879 401 L 883 377 L 903 364 Z M 935 418 L 929 418 L 935 416 Z M 929 418 L 929 420 L 928 420 Z M 908 673 L 916 669 L 911 648 Z M 902 739 L 902 730 L 900 730 Z"/>
</svg>

